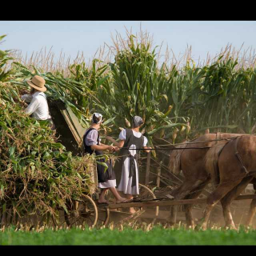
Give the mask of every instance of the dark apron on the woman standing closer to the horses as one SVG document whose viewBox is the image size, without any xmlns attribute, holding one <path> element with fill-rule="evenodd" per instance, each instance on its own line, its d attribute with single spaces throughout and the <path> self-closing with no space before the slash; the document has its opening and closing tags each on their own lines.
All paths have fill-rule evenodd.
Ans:
<svg viewBox="0 0 256 256">
<path fill-rule="evenodd" d="M 126 141 L 123 145 L 123 148 L 120 150 L 120 156 L 122 156 L 122 164 L 126 161 L 126 158 L 130 158 L 130 170 L 129 170 L 129 178 L 132 178 L 131 186 L 136 186 L 136 166 L 135 161 L 137 162 L 138 166 L 138 154 L 139 150 L 136 150 L 136 154 L 132 156 L 130 151 L 127 150 L 130 148 L 131 145 L 135 145 L 136 149 L 142 149 L 144 143 L 143 135 L 138 138 L 134 136 L 133 130 L 126 129 Z"/>
</svg>

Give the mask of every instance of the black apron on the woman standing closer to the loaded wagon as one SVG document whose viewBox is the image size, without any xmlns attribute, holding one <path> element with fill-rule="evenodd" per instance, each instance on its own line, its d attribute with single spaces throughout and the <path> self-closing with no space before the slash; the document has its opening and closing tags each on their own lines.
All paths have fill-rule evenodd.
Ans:
<svg viewBox="0 0 256 256">
<path fill-rule="evenodd" d="M 96 130 L 94 128 L 90 128 L 86 130 L 86 133 L 83 135 L 83 145 L 85 148 L 85 154 L 93 154 L 95 153 L 96 155 L 101 155 L 102 151 L 101 150 L 92 150 L 90 146 L 86 145 L 86 136 L 90 133 L 91 130 Z M 99 135 L 97 138 L 97 145 L 99 145 Z M 98 182 L 107 182 L 108 180 L 114 180 L 115 179 L 115 174 L 112 166 L 112 161 L 106 162 L 106 165 L 108 166 L 107 170 L 105 171 L 105 166 L 102 166 L 98 162 L 105 162 L 104 158 L 97 159 L 97 173 L 98 173 Z"/>
</svg>

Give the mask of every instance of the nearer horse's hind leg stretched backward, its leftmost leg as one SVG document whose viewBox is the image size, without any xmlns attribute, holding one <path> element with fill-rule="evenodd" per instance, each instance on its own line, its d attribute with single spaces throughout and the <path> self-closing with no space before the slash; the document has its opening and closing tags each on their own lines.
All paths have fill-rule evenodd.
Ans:
<svg viewBox="0 0 256 256">
<path fill-rule="evenodd" d="M 235 181 L 222 182 L 216 190 L 207 198 L 207 206 L 203 212 L 203 216 L 198 222 L 198 225 L 195 227 L 196 230 L 202 228 L 202 230 L 206 230 L 207 223 L 210 218 L 210 213 L 213 210 L 214 206 L 227 194 L 230 190 L 233 190 L 235 186 L 237 186 L 240 182 L 242 182 L 242 178 L 237 178 Z"/>
</svg>

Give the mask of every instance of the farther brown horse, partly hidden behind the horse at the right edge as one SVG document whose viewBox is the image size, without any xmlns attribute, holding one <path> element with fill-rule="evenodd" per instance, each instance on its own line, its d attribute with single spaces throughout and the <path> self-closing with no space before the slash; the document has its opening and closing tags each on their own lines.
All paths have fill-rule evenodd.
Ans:
<svg viewBox="0 0 256 256">
<path fill-rule="evenodd" d="M 175 199 L 198 198 L 202 190 L 210 182 L 212 175 L 206 170 L 205 157 L 212 146 L 223 146 L 230 138 L 236 138 L 244 134 L 204 134 L 199 138 L 178 147 L 193 147 L 204 149 L 172 150 L 170 154 L 169 169 L 174 174 L 182 170 L 184 182 L 171 192 Z M 186 142 L 184 142 L 186 143 Z M 185 205 L 186 225 L 194 226 L 192 206 Z M 170 222 L 176 222 L 177 206 L 173 206 L 170 214 Z"/>
</svg>

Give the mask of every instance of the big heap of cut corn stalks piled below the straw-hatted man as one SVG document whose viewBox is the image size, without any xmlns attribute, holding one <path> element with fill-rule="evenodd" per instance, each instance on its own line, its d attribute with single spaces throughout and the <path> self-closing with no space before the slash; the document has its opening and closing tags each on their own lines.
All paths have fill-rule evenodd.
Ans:
<svg viewBox="0 0 256 256">
<path fill-rule="evenodd" d="M 10 84 L 0 83 L 0 210 L 19 217 L 65 210 L 90 191 L 94 156 L 73 157 L 44 122 L 28 117 Z M 15 95 L 13 95 L 15 96 Z"/>
</svg>

